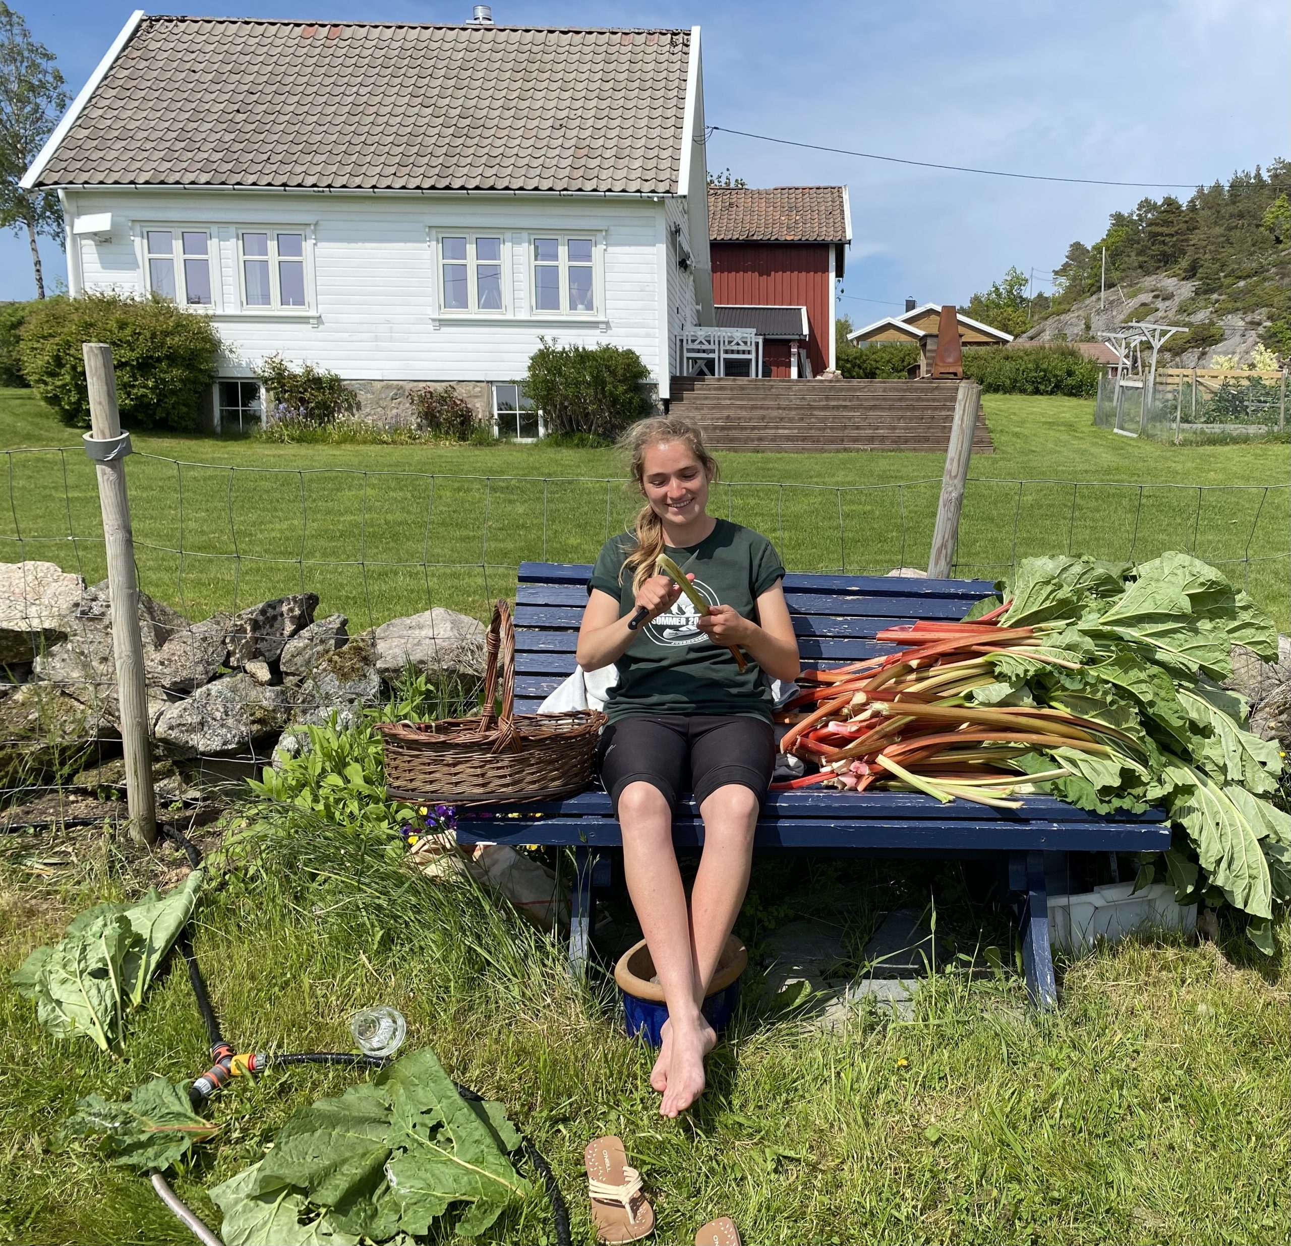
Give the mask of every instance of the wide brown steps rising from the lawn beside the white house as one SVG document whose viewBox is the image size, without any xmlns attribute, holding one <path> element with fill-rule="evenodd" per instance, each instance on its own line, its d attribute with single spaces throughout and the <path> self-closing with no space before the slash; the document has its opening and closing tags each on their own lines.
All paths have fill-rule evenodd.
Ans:
<svg viewBox="0 0 1291 1246">
<path fill-rule="evenodd" d="M 715 450 L 945 453 L 958 381 L 674 377 L 671 410 Z M 975 454 L 993 449 L 977 415 Z"/>
</svg>

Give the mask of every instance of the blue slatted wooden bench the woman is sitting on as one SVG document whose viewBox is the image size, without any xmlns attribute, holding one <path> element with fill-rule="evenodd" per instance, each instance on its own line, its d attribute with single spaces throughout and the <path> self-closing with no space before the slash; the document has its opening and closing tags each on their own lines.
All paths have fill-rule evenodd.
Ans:
<svg viewBox="0 0 1291 1246">
<path fill-rule="evenodd" d="M 534 712 L 574 668 L 574 646 L 587 601 L 586 565 L 525 562 L 516 591 L 518 713 Z M 866 575 L 786 575 L 785 596 L 804 666 L 856 662 L 896 646 L 874 637 L 914 619 L 959 619 L 988 596 L 986 580 L 897 579 Z M 576 862 L 571 962 L 589 951 L 591 885 L 598 849 L 622 846 L 609 797 L 586 791 L 560 801 L 492 806 L 458 813 L 462 844 L 542 844 L 572 847 Z M 693 800 L 678 809 L 678 847 L 704 844 Z M 1140 853 L 1170 846 L 1159 811 L 1087 814 L 1062 801 L 1029 796 L 1021 810 L 993 810 L 954 801 L 941 805 L 919 792 L 772 792 L 758 822 L 755 850 L 826 855 L 975 858 L 1006 854 L 1016 896 L 1022 964 L 1032 998 L 1057 1000 L 1048 940 L 1048 880 L 1062 877 L 1066 854 Z"/>
</svg>

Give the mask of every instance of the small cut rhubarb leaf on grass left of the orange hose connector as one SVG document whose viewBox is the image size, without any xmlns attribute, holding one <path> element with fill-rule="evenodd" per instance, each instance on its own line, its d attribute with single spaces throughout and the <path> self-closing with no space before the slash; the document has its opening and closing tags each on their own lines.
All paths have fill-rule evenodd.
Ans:
<svg viewBox="0 0 1291 1246">
<path fill-rule="evenodd" d="M 187 1083 L 154 1077 L 136 1086 L 127 1103 L 108 1103 L 102 1095 L 77 1099 L 63 1132 L 99 1136 L 112 1163 L 160 1172 L 218 1129 L 192 1111 Z"/>
</svg>

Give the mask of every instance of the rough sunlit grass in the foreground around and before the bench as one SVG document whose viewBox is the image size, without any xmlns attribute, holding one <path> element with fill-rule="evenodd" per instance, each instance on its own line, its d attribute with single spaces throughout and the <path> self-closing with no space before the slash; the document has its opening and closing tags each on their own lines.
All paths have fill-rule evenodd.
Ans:
<svg viewBox="0 0 1291 1246">
<path fill-rule="evenodd" d="M 408 1050 L 432 1045 L 452 1076 L 502 1099 L 532 1135 L 569 1200 L 574 1242 L 593 1241 L 582 1148 L 607 1132 L 644 1174 L 655 1240 L 667 1243 L 693 1241 L 723 1214 L 758 1246 L 1247 1243 L 1291 1231 L 1286 958 L 1255 965 L 1263 958 L 1241 935 L 1127 943 L 1060 964 L 1062 1005 L 1048 1016 L 1028 1006 L 1012 973 L 940 974 L 913 1023 L 861 1018 L 830 1037 L 746 1009 L 713 1056 L 709 1093 L 669 1122 L 646 1081 L 651 1054 L 625 1037 L 603 976 L 574 987 L 558 948 L 474 891 L 425 880 L 409 890 L 398 864 L 360 860 L 356 849 L 338 858 L 337 845 L 354 842 L 345 836 L 302 837 L 208 886 L 196 949 L 225 1032 L 239 1049 L 345 1050 L 354 1010 L 395 1005 L 408 1016 Z M 170 849 L 150 864 L 94 835 L 8 840 L 5 971 L 85 904 L 173 880 L 182 864 Z M 767 895 L 784 920 L 818 912 L 844 884 L 882 907 L 927 903 L 931 887 L 939 938 L 958 922 L 966 954 L 979 925 L 986 939 L 999 929 L 966 909 L 949 872 L 849 868 L 759 864 L 763 899 L 745 905 L 737 929 L 755 936 Z M 1283 948 L 1286 938 L 1283 920 Z M 746 989 L 757 979 L 750 970 Z M 152 1074 L 205 1068 L 182 969 L 152 987 L 123 1059 L 50 1038 L 8 984 L 0 1038 L 10 1054 L 0 1069 L 0 1240 L 187 1246 L 145 1180 L 58 1132 L 80 1095 L 124 1098 Z M 358 1076 L 287 1069 L 235 1081 L 208 1109 L 221 1132 L 181 1162 L 177 1191 L 218 1229 L 205 1189 L 259 1158 L 292 1111 Z M 534 1196 L 488 1240 L 549 1242 L 549 1225 Z"/>
</svg>

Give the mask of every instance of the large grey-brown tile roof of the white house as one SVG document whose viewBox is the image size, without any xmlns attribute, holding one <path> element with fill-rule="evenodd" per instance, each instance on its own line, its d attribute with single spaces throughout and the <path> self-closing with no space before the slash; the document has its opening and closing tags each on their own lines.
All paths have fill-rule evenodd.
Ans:
<svg viewBox="0 0 1291 1246">
<path fill-rule="evenodd" d="M 52 184 L 669 193 L 688 30 L 145 18 Z"/>
</svg>

